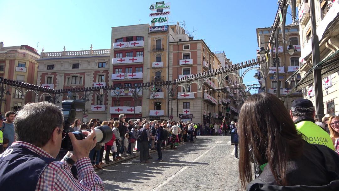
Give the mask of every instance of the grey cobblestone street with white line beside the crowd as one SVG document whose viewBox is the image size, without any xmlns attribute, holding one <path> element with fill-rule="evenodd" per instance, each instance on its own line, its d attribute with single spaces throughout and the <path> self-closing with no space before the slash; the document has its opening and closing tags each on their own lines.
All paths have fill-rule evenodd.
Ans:
<svg viewBox="0 0 339 191">
<path fill-rule="evenodd" d="M 105 190 L 238 190 L 238 159 L 230 136 L 198 136 L 178 150 L 152 153 L 149 163 L 134 158 L 97 171 Z"/>
</svg>

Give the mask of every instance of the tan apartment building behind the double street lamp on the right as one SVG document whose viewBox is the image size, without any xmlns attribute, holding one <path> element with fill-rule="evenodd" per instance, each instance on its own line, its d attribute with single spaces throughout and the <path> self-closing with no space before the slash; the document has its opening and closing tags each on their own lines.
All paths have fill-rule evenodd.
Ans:
<svg viewBox="0 0 339 191">
<path fill-rule="evenodd" d="M 268 41 L 271 34 L 271 28 L 257 28 L 256 32 L 258 47 L 266 47 L 269 43 Z M 279 32 L 279 34 L 279 40 L 281 41 L 281 31 Z M 271 66 L 268 66 L 268 76 L 266 77 L 266 79 L 262 79 L 263 81 L 259 81 L 259 84 L 265 87 L 267 92 L 276 94 L 277 80 L 279 80 L 281 101 L 284 102 L 284 105 L 287 109 L 291 109 L 291 104 L 293 100 L 302 97 L 301 91 L 295 91 L 288 97 L 286 96 L 286 94 L 289 93 L 292 88 L 294 88 L 295 84 L 300 81 L 300 75 L 297 76 L 296 80 L 294 80 L 291 85 L 286 85 L 284 83 L 286 79 L 288 79 L 299 68 L 299 58 L 301 55 L 299 25 L 287 25 L 285 29 L 285 34 L 287 43 L 283 44 L 282 42 L 279 42 L 277 58 L 275 57 L 275 45 L 274 43 L 271 43 L 272 51 L 269 54 L 272 55 L 272 57 L 268 56 L 268 59 L 272 59 L 270 62 L 272 64 Z M 288 53 L 288 46 L 290 45 L 293 45 L 296 49 L 296 51 L 292 55 Z M 279 67 L 279 77 L 274 75 L 276 74 L 276 64 L 278 64 Z"/>
</svg>

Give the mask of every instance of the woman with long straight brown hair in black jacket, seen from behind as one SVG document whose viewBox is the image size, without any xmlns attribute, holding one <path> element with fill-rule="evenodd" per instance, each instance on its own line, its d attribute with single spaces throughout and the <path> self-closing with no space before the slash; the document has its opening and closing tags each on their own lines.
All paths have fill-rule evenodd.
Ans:
<svg viewBox="0 0 339 191">
<path fill-rule="evenodd" d="M 251 95 L 239 114 L 239 176 L 246 190 L 339 190 L 339 155 L 297 132 L 273 94 Z M 252 152 L 250 152 L 250 149 Z M 262 170 L 252 181 L 250 160 Z M 287 187 L 282 187 L 287 186 Z"/>
</svg>

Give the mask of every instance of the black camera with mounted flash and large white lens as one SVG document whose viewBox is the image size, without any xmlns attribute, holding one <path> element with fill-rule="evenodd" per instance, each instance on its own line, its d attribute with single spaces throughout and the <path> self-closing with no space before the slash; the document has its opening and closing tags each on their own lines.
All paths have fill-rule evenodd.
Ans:
<svg viewBox="0 0 339 191">
<path fill-rule="evenodd" d="M 64 115 L 64 130 L 66 133 L 65 138 L 61 141 L 60 151 L 73 151 L 73 145 L 71 139 L 68 136 L 68 133 L 73 133 L 75 138 L 82 140 L 86 138 L 86 135 L 83 134 L 83 131 L 91 132 L 91 129 L 84 129 L 80 131 L 74 131 L 71 126 L 71 123 L 75 120 L 76 109 L 83 109 L 85 107 L 85 101 L 82 100 L 64 100 L 62 101 L 62 109 Z M 107 126 L 95 127 L 97 143 L 106 143 L 112 139 L 113 132 L 112 129 Z"/>
</svg>

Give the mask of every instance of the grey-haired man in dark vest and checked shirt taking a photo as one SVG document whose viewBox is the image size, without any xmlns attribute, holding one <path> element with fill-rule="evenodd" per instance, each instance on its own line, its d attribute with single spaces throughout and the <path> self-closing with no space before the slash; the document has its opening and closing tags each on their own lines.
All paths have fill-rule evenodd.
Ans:
<svg viewBox="0 0 339 191">
<path fill-rule="evenodd" d="M 48 119 L 48 120 L 46 120 Z M 95 146 L 95 131 L 83 132 L 87 137 L 77 140 L 69 133 L 74 154 L 68 152 L 58 161 L 61 140 L 65 137 L 63 114 L 54 104 L 26 104 L 14 120 L 17 142 L 0 155 L 2 190 L 103 190 L 104 183 L 94 173 L 89 151 Z M 73 161 L 72 161 L 72 160 Z M 79 180 L 71 173 L 75 162 Z"/>
</svg>

